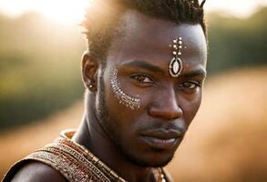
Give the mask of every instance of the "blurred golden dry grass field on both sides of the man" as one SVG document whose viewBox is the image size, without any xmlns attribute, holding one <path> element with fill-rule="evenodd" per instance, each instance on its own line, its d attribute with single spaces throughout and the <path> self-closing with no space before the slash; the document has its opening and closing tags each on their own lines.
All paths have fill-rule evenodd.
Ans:
<svg viewBox="0 0 267 182">
<path fill-rule="evenodd" d="M 206 82 L 203 102 L 176 156 L 174 181 L 267 181 L 267 67 L 231 71 Z M 0 179 L 15 160 L 76 127 L 81 102 L 46 120 L 0 135 Z"/>
</svg>

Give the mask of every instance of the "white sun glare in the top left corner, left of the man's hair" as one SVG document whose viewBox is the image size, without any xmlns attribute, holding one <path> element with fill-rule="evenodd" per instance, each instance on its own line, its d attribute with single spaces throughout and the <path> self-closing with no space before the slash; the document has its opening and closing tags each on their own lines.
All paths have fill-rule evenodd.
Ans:
<svg viewBox="0 0 267 182">
<path fill-rule="evenodd" d="M 7 15 L 34 11 L 66 24 L 79 23 L 88 5 L 89 0 L 0 0 L 0 10 Z"/>
</svg>

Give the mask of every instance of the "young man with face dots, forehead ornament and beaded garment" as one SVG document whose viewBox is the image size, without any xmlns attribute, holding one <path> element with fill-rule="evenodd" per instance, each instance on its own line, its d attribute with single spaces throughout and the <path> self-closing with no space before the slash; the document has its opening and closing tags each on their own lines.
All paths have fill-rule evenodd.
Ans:
<svg viewBox="0 0 267 182">
<path fill-rule="evenodd" d="M 201 101 L 207 42 L 198 0 L 98 0 L 87 10 L 77 131 L 4 181 L 171 181 L 166 166 Z"/>
</svg>

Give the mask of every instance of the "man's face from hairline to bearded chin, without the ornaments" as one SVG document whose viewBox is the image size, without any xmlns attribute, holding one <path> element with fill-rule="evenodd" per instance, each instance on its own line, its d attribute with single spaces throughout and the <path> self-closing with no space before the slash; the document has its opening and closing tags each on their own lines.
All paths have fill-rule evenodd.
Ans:
<svg viewBox="0 0 267 182">
<path fill-rule="evenodd" d="M 100 78 L 98 118 L 128 160 L 143 167 L 165 166 L 200 107 L 205 37 L 200 25 L 176 25 L 136 11 L 128 11 L 124 19 L 125 35 L 113 41 Z M 177 37 L 183 40 L 183 68 L 180 76 L 172 77 L 169 45 Z M 139 96 L 139 108 L 119 103 L 110 83 L 115 70 L 120 89 L 128 96 Z"/>
</svg>

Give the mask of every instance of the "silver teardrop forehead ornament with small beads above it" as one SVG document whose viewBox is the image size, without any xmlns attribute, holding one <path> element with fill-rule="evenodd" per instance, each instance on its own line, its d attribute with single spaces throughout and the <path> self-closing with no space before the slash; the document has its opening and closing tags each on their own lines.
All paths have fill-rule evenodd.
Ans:
<svg viewBox="0 0 267 182">
<path fill-rule="evenodd" d="M 178 37 L 173 39 L 172 45 L 172 56 L 173 58 L 169 62 L 169 75 L 172 77 L 180 76 L 182 71 L 182 61 L 180 59 L 182 49 L 182 38 Z"/>
</svg>

